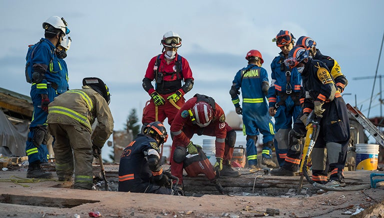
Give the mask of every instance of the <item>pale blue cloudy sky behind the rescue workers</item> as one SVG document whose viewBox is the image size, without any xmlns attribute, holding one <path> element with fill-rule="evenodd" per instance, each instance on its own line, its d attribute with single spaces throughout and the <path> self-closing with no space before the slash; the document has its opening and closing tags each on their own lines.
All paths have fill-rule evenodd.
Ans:
<svg viewBox="0 0 384 218">
<path fill-rule="evenodd" d="M 162 35 L 173 30 L 182 38 L 178 53 L 190 64 L 195 93 L 212 96 L 225 113 L 234 110 L 229 89 L 235 73 L 246 66 L 250 49 L 270 62 L 280 51 L 271 39 L 280 29 L 312 37 L 317 48 L 338 61 L 349 84 L 346 103 L 367 113 L 384 31 L 381 0 L 194 0 L 194 1 L 0 1 L 0 87 L 29 95 L 24 65 L 28 44 L 43 37 L 41 23 L 62 16 L 72 44 L 65 58 L 69 87 L 80 88 L 83 77 L 96 76 L 109 86 L 116 130 L 132 108 L 141 111 L 148 94 L 142 89 L 149 59 L 161 52 Z M 383 55 L 378 74 L 384 74 Z M 270 77 L 269 77 L 270 78 Z M 379 93 L 376 81 L 374 94 Z M 379 116 L 378 96 L 370 117 Z"/>
</svg>

